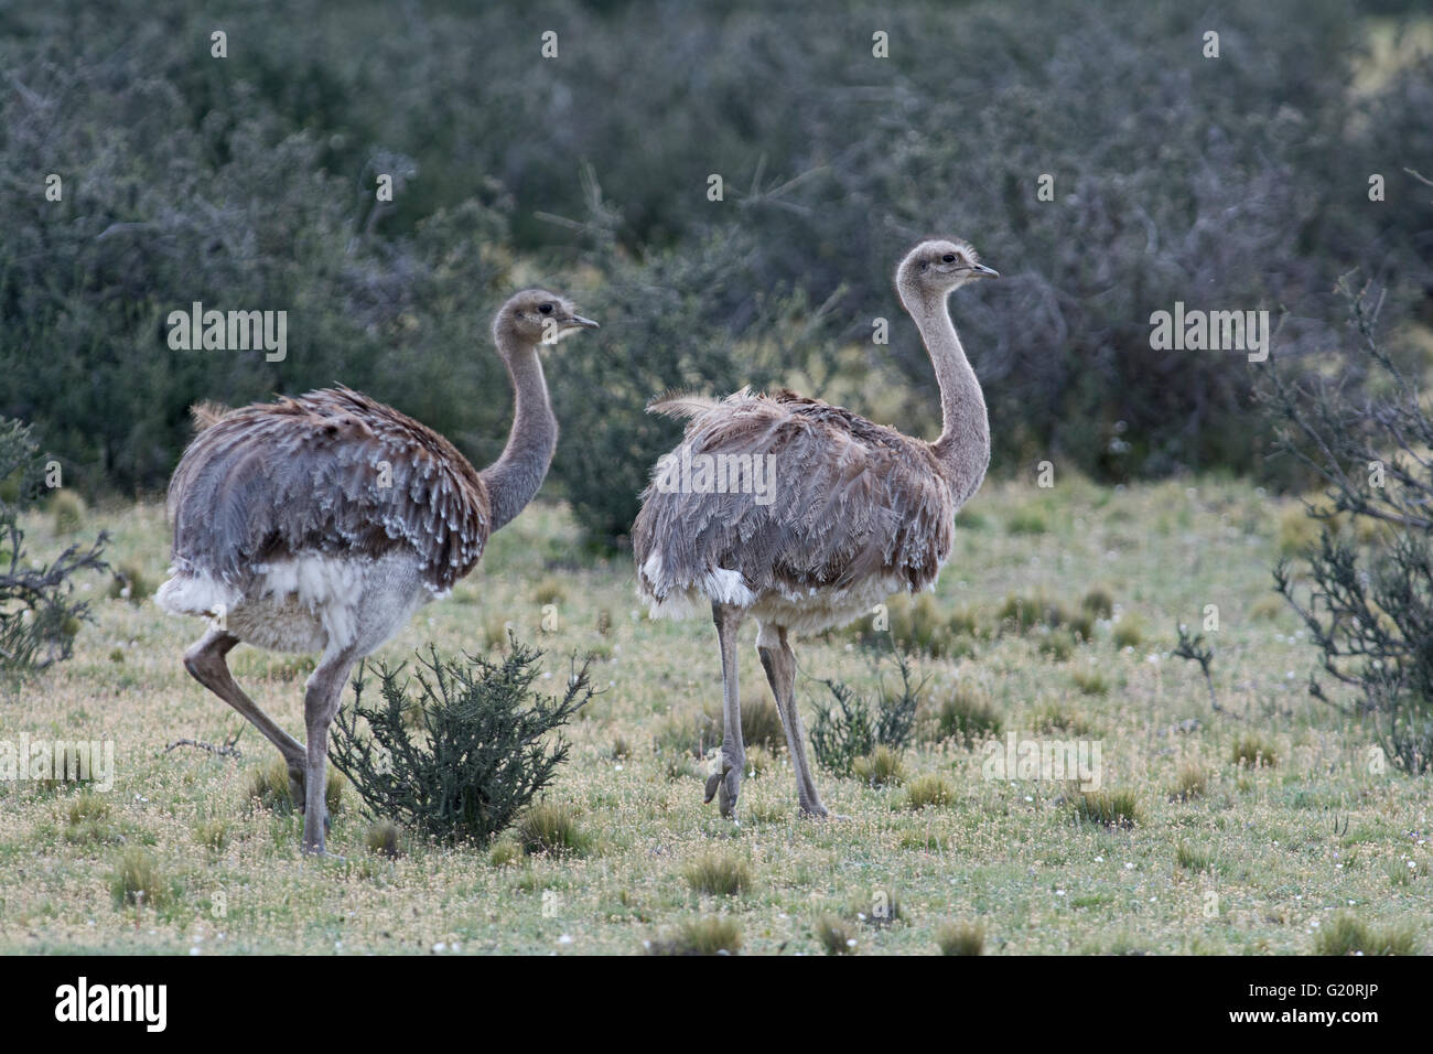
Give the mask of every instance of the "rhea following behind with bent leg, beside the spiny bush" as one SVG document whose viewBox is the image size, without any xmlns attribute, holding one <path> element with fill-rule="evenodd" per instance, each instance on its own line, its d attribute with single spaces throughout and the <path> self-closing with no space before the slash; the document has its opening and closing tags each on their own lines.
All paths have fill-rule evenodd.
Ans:
<svg viewBox="0 0 1433 1054">
<path fill-rule="evenodd" d="M 537 493 L 557 445 L 537 348 L 596 326 L 545 290 L 502 307 L 493 340 L 513 424 L 481 472 L 433 429 L 341 386 L 196 407 L 199 435 L 169 482 L 173 565 L 155 599 L 211 619 L 185 668 L 284 756 L 304 852 L 324 852 L 328 727 L 350 670 L 447 595 Z M 225 657 L 241 641 L 321 652 L 304 688 L 305 743 L 235 684 Z"/>
</svg>

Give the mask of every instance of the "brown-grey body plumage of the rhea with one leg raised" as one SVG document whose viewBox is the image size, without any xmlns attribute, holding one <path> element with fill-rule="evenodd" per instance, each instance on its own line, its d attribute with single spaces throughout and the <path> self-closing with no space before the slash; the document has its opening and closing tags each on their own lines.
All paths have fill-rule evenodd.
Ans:
<svg viewBox="0 0 1433 1054">
<path fill-rule="evenodd" d="M 185 450 L 168 508 L 176 569 L 229 585 L 304 552 L 410 549 L 441 592 L 490 531 L 487 488 L 457 447 L 342 386 L 215 420 Z"/>
</svg>

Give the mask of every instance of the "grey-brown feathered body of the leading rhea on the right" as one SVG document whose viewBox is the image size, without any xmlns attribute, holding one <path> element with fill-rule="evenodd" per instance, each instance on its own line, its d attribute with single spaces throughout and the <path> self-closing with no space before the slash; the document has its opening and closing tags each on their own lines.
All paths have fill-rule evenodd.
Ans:
<svg viewBox="0 0 1433 1054">
<path fill-rule="evenodd" d="M 752 493 L 642 495 L 632 529 L 639 591 L 663 599 L 716 569 L 754 592 L 844 587 L 890 575 L 910 589 L 934 582 L 950 555 L 956 502 L 929 443 L 838 406 L 781 390 L 724 402 L 665 397 L 656 413 L 688 416 L 692 455 L 774 455 L 771 503 Z M 648 556 L 659 552 L 659 579 Z"/>
</svg>

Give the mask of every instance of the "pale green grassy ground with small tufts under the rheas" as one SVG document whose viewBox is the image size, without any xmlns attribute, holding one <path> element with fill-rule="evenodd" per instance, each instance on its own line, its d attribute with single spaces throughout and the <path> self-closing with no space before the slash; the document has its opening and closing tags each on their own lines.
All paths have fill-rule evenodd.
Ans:
<svg viewBox="0 0 1433 1054">
<path fill-rule="evenodd" d="M 153 591 L 166 556 L 160 508 L 90 512 L 83 526 L 109 528 L 116 562 Z M 986 954 L 1304 954 L 1358 944 L 1360 925 L 1424 951 L 1427 782 L 1376 771 L 1370 731 L 1307 697 L 1315 655 L 1268 574 L 1303 538 L 1294 506 L 1241 483 L 987 485 L 962 515 L 934 598 L 941 619 L 959 612 L 959 632 L 947 655 L 919 663 L 931 680 L 904 783 L 818 771 L 827 803 L 850 819 L 802 822 L 777 737 L 752 751 L 758 773 L 735 826 L 702 806 L 704 761 L 688 750 L 718 710 L 711 625 L 646 621 L 629 565 L 575 556 L 562 508 L 535 506 L 381 657 L 427 641 L 483 650 L 504 622 L 549 650 L 557 678 L 567 652 L 596 652 L 603 694 L 570 727 L 572 757 L 549 794 L 588 845 L 562 858 L 526 856 L 509 837 L 483 850 L 406 837 L 400 858 L 375 856 L 348 789 L 330 837 L 345 859 L 302 859 L 301 819 L 248 800 L 274 756 L 252 728 L 238 760 L 163 753 L 179 737 L 218 743 L 244 727 L 183 673 L 199 624 L 148 598 L 106 599 L 95 584 L 96 624 L 73 661 L 6 690 L 0 739 L 112 737 L 116 784 L 107 794 L 0 787 L 0 951 L 641 952 L 649 941 L 729 945 L 737 934 L 758 954 L 940 942 Z M 40 555 L 63 539 L 36 518 L 27 541 Z M 1095 588 L 1113 611 L 1088 644 L 996 630 L 1009 595 L 1075 611 Z M 545 604 L 556 632 L 540 632 Z M 1175 625 L 1201 625 L 1209 604 L 1222 713 L 1198 667 L 1169 655 Z M 744 698 L 770 706 L 752 638 L 744 627 Z M 830 698 L 818 678 L 874 687 L 871 652 L 850 637 L 797 654 L 808 724 Z M 307 658 L 241 647 L 234 668 L 301 733 Z M 939 739 L 941 708 L 979 718 L 982 706 L 997 727 L 974 743 Z M 980 736 L 1009 731 L 1098 740 L 1103 804 L 1134 825 L 1076 820 L 1079 796 L 1065 783 L 983 779 Z M 1275 763 L 1238 763 L 1241 740 Z M 916 810 L 923 776 L 949 797 Z M 116 893 L 126 868 L 150 891 L 142 905 Z M 737 892 L 704 892 L 722 888 Z M 894 924 L 873 925 L 890 902 Z"/>
</svg>

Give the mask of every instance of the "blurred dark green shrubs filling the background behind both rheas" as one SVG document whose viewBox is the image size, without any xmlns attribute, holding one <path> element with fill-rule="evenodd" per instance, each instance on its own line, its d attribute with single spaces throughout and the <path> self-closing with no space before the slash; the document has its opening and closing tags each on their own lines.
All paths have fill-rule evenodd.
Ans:
<svg viewBox="0 0 1433 1054">
<path fill-rule="evenodd" d="M 1151 351 L 1149 314 L 1268 308 L 1275 354 L 1317 356 L 1344 340 L 1334 284 L 1357 270 L 1391 290 L 1390 328 L 1433 321 L 1433 188 L 1406 171 L 1433 178 L 1422 9 L 7 6 L 0 416 L 92 496 L 163 488 L 199 399 L 334 381 L 481 466 L 510 413 L 490 313 L 547 284 L 603 324 L 549 360 L 566 433 L 549 493 L 612 541 L 675 440 L 642 413 L 666 387 L 790 383 L 933 436 L 890 275 L 954 234 L 1003 275 L 953 301 L 995 472 L 1270 479 L 1260 370 Z M 168 313 L 196 300 L 287 310 L 287 360 L 171 350 Z"/>
</svg>

